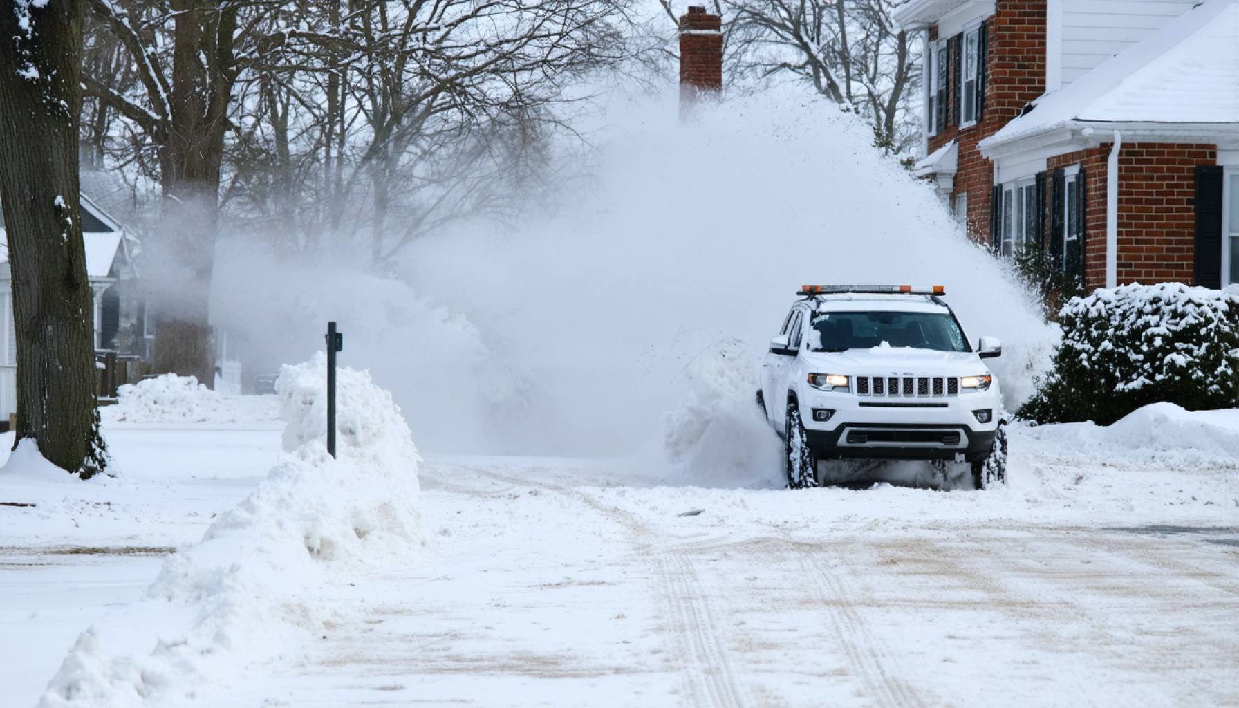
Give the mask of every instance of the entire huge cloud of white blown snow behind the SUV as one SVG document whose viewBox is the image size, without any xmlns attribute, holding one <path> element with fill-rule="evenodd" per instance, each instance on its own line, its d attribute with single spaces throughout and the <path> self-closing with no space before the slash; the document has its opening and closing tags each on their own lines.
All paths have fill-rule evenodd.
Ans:
<svg viewBox="0 0 1239 708">
<path fill-rule="evenodd" d="M 342 365 L 370 368 L 426 450 L 642 450 L 710 479 L 777 454 L 750 389 L 802 283 L 945 284 L 974 341 L 1004 341 L 1009 403 L 1030 392 L 1051 331 L 862 122 L 787 88 L 686 124 L 674 95 L 616 99 L 575 126 L 593 150 L 565 146 L 574 177 L 544 208 L 424 237 L 394 275 L 223 244 L 216 320 L 255 371 L 337 320 Z"/>
</svg>

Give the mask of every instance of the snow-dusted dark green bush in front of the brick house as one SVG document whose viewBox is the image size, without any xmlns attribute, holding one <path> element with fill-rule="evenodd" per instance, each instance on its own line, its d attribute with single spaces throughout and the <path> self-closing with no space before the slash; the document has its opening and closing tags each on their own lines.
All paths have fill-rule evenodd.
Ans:
<svg viewBox="0 0 1239 708">
<path fill-rule="evenodd" d="M 1239 391 L 1239 294 L 1181 283 L 1072 298 L 1040 391 L 1020 409 L 1038 423 L 1110 424 L 1160 400 L 1228 408 Z"/>
</svg>

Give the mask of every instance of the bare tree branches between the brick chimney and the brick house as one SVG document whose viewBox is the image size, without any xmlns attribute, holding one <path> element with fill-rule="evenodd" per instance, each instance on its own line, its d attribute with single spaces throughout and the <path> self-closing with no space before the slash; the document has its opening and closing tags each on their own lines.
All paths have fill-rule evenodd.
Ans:
<svg viewBox="0 0 1239 708">
<path fill-rule="evenodd" d="M 919 68 L 914 37 L 891 11 L 901 0 L 729 0 L 737 69 L 797 77 L 873 126 L 875 143 L 902 153 L 917 138 L 909 109 Z"/>
</svg>

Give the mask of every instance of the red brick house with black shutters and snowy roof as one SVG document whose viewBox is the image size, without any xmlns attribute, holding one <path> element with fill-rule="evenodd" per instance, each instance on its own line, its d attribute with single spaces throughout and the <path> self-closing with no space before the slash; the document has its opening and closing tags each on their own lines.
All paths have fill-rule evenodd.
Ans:
<svg viewBox="0 0 1239 708">
<path fill-rule="evenodd" d="M 1239 0 L 908 0 L 968 233 L 1087 288 L 1239 283 Z"/>
</svg>

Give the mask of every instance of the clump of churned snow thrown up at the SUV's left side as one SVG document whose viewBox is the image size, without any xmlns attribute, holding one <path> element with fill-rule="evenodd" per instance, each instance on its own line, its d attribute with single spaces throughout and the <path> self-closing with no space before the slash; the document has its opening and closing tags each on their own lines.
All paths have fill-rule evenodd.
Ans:
<svg viewBox="0 0 1239 708">
<path fill-rule="evenodd" d="M 782 444 L 757 405 L 752 352 L 742 342 L 719 342 L 684 369 L 689 402 L 663 417 L 664 450 L 678 484 L 781 486 Z"/>
</svg>

